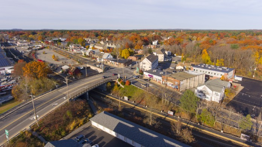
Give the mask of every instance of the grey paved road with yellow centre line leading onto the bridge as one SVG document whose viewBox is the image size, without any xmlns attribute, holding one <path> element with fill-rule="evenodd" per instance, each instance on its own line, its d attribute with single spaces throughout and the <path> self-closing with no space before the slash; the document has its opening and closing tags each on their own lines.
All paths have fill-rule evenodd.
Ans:
<svg viewBox="0 0 262 147">
<path fill-rule="evenodd" d="M 77 94 L 77 90 L 94 85 L 95 82 L 102 81 L 100 75 L 84 79 L 69 85 L 69 97 Z M 42 117 L 46 113 L 50 112 L 54 107 L 57 107 L 67 101 L 67 87 L 60 88 L 46 95 L 41 96 L 40 99 L 35 101 L 36 112 L 39 117 Z M 64 97 L 66 99 L 64 99 Z M 25 105 L 17 111 L 11 113 L 7 117 L 0 120 L 0 144 L 6 140 L 5 129 L 9 131 L 10 138 L 20 131 L 28 128 L 35 122 L 32 103 Z"/>
</svg>

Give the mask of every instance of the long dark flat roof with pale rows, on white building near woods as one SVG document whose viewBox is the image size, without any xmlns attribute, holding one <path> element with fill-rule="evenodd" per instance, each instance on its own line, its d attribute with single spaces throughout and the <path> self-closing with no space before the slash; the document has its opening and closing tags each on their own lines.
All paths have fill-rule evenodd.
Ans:
<svg viewBox="0 0 262 147">
<path fill-rule="evenodd" d="M 213 71 L 219 71 L 219 72 L 224 72 L 224 73 L 229 73 L 230 71 L 235 69 L 235 68 L 228 68 L 228 67 L 208 65 L 208 64 L 199 64 L 199 65 L 195 65 L 195 66 L 192 66 L 192 67 L 193 68 L 213 70 Z"/>
</svg>

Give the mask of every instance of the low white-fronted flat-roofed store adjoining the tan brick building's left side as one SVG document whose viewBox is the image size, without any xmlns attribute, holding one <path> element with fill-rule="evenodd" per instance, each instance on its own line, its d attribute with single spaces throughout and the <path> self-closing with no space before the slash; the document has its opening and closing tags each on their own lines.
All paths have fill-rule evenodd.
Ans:
<svg viewBox="0 0 262 147">
<path fill-rule="evenodd" d="M 150 69 L 150 70 L 144 71 L 143 74 L 145 78 L 150 78 L 162 84 L 162 75 L 170 75 L 171 73 L 164 72 L 163 70 L 159 70 L 159 69 Z"/>
</svg>

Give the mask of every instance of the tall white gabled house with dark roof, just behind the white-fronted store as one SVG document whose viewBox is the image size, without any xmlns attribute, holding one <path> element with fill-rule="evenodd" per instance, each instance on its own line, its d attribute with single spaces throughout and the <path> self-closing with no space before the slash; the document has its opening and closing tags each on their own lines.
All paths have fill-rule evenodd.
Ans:
<svg viewBox="0 0 262 147">
<path fill-rule="evenodd" d="M 150 54 L 142 62 L 140 62 L 140 69 L 146 71 L 149 69 L 156 69 L 158 66 L 158 56 Z"/>
</svg>

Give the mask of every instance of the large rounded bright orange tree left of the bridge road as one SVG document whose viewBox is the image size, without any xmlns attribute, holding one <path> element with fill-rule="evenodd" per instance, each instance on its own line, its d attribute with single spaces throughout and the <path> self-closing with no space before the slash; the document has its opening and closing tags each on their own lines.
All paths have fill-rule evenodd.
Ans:
<svg viewBox="0 0 262 147">
<path fill-rule="evenodd" d="M 24 77 L 30 77 L 33 79 L 40 79 L 47 77 L 50 71 L 45 62 L 31 61 L 23 67 Z"/>
</svg>

